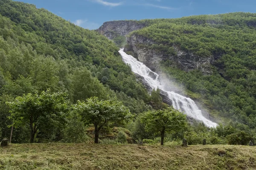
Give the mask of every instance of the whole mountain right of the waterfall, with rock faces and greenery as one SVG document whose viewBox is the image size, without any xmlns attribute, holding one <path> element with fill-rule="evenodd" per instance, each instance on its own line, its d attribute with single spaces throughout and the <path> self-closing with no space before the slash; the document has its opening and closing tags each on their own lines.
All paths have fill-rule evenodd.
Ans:
<svg viewBox="0 0 256 170">
<path fill-rule="evenodd" d="M 256 14 L 111 21 L 97 31 L 220 122 L 256 127 Z"/>
</svg>

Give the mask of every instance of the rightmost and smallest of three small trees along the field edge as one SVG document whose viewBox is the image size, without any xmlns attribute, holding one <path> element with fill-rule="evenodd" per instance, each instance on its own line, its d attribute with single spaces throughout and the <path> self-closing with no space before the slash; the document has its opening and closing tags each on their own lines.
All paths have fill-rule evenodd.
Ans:
<svg viewBox="0 0 256 170">
<path fill-rule="evenodd" d="M 145 130 L 161 133 L 161 145 L 166 131 L 175 132 L 186 126 L 186 116 L 172 107 L 148 111 L 142 116 L 141 121 L 145 123 Z"/>
</svg>

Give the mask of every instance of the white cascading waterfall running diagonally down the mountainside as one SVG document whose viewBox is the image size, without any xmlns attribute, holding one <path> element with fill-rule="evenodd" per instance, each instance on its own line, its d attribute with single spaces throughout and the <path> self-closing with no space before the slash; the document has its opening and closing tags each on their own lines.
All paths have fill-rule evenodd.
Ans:
<svg viewBox="0 0 256 170">
<path fill-rule="evenodd" d="M 122 59 L 125 63 L 131 66 L 131 70 L 134 73 L 139 74 L 140 76 L 144 77 L 146 82 L 150 85 L 151 88 L 157 89 L 160 88 L 164 91 L 164 85 L 161 85 L 158 77 L 159 75 L 151 71 L 146 65 L 142 62 L 139 62 L 137 59 L 128 55 L 124 52 L 124 49 L 120 49 L 119 53 L 122 56 Z M 152 74 L 156 79 L 152 78 Z M 187 97 L 181 96 L 180 94 L 176 94 L 173 91 L 166 91 L 168 93 L 169 99 L 172 100 L 172 105 L 175 109 L 185 113 L 186 115 L 200 120 L 204 122 L 204 124 L 208 127 L 216 127 L 218 124 L 206 119 L 203 115 L 201 110 L 198 109 L 195 102 Z"/>
</svg>

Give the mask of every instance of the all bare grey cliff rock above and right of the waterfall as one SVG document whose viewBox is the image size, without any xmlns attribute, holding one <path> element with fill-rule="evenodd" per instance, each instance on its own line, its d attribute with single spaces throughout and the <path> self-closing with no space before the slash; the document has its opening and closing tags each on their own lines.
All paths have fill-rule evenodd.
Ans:
<svg viewBox="0 0 256 170">
<path fill-rule="evenodd" d="M 103 23 L 96 31 L 105 35 L 108 39 L 113 40 L 115 37 L 126 36 L 132 31 L 142 29 L 145 26 L 145 23 L 139 23 L 137 21 L 109 21 Z M 153 40 L 137 34 L 126 37 L 126 41 L 127 45 L 124 51 L 131 52 L 134 57 L 137 57 L 139 61 L 143 62 L 148 68 L 157 73 L 161 72 L 160 62 L 169 60 L 170 63 L 172 63 L 170 66 L 178 67 L 184 71 L 199 69 L 204 74 L 210 75 L 212 74 L 211 65 L 214 65 L 215 60 L 220 57 L 219 55 L 199 57 L 187 51 L 180 50 L 178 45 L 173 45 L 176 55 L 169 55 L 154 48 L 145 48 L 145 46 L 156 43 Z M 216 66 L 218 67 L 218 65 Z"/>
</svg>

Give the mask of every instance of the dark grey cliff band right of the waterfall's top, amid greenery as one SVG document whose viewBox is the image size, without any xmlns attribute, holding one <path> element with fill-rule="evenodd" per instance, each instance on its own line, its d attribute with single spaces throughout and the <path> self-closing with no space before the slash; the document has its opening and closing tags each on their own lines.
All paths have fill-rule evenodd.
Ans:
<svg viewBox="0 0 256 170">
<path fill-rule="evenodd" d="M 160 72 L 160 62 L 170 60 L 174 67 L 178 67 L 183 71 L 191 71 L 194 69 L 201 70 L 204 74 L 212 74 L 211 65 L 214 63 L 215 59 L 220 56 L 210 56 L 210 57 L 199 57 L 193 53 L 180 50 L 180 47 L 173 45 L 177 55 L 169 55 L 163 51 L 158 51 L 157 49 L 146 48 L 145 46 L 151 46 L 155 44 L 154 41 L 149 40 L 141 35 L 133 34 L 127 37 L 128 47 L 124 51 L 133 51 L 137 59 L 143 62 L 154 72 Z"/>
</svg>

